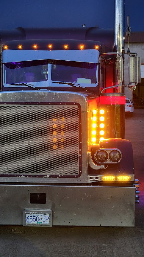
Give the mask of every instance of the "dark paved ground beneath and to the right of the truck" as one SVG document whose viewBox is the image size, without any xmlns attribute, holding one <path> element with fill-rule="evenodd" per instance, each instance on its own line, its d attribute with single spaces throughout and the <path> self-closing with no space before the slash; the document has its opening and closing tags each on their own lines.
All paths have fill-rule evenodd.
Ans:
<svg viewBox="0 0 144 257">
<path fill-rule="evenodd" d="M 140 180 L 134 228 L 0 226 L 0 256 L 144 257 L 144 109 L 126 117 L 126 139 Z"/>
</svg>

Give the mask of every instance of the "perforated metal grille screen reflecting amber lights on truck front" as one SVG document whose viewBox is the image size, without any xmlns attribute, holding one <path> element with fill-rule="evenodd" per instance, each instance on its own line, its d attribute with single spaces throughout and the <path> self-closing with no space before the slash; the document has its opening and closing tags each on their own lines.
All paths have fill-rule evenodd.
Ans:
<svg viewBox="0 0 144 257">
<path fill-rule="evenodd" d="M 77 105 L 0 105 L 0 113 L 0 174 L 79 174 Z"/>
</svg>

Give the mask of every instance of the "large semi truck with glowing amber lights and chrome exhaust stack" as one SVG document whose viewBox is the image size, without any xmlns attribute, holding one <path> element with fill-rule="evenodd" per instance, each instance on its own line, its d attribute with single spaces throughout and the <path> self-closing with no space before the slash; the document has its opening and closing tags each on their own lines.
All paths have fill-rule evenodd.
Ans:
<svg viewBox="0 0 144 257">
<path fill-rule="evenodd" d="M 134 226 L 123 13 L 114 30 L 0 30 L 0 224 Z"/>
</svg>

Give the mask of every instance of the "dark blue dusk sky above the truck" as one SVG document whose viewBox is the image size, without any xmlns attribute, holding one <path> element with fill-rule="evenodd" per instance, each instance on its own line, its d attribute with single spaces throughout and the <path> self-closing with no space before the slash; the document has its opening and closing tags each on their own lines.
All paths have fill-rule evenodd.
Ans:
<svg viewBox="0 0 144 257">
<path fill-rule="evenodd" d="M 7 0 L 0 9 L 0 29 L 114 26 L 114 0 Z M 125 28 L 127 15 L 132 31 L 144 31 L 143 0 L 125 0 Z"/>
</svg>

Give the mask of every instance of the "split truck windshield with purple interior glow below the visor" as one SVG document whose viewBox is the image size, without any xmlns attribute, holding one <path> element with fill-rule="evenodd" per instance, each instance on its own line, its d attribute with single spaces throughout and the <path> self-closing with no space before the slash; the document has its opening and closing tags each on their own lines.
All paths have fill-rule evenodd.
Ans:
<svg viewBox="0 0 144 257">
<path fill-rule="evenodd" d="M 7 62 L 4 64 L 4 84 L 29 82 L 37 84 L 37 82 L 45 81 L 45 83 L 40 83 L 41 87 L 60 87 L 62 85 L 54 83 L 59 81 L 85 83 L 88 87 L 96 86 L 97 65 L 96 63 L 62 60 Z"/>
</svg>

